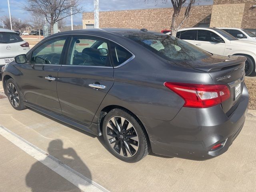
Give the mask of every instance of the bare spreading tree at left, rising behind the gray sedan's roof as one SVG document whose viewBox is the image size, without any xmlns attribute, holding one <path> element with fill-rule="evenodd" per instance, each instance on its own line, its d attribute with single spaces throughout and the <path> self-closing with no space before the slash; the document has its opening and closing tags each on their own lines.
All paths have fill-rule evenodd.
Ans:
<svg viewBox="0 0 256 192">
<path fill-rule="evenodd" d="M 72 14 L 70 8 L 72 8 Z M 56 22 L 82 12 L 82 7 L 78 6 L 78 0 L 26 0 L 24 9 L 33 14 L 44 15 L 50 24 L 51 34 Z"/>
</svg>

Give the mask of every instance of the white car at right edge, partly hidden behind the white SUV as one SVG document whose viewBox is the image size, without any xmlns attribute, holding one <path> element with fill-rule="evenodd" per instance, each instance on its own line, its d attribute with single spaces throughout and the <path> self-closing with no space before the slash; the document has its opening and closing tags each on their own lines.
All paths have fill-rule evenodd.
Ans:
<svg viewBox="0 0 256 192">
<path fill-rule="evenodd" d="M 230 35 L 238 38 L 239 40 L 244 41 L 250 41 L 256 43 L 256 34 L 245 30 L 245 29 L 239 29 L 239 28 L 219 28 L 226 32 L 228 32 Z"/>
</svg>

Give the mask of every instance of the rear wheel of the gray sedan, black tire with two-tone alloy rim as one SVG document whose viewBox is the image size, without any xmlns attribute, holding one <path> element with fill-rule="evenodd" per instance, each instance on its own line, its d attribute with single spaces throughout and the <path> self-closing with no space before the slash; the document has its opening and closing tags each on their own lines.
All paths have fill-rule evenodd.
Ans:
<svg viewBox="0 0 256 192">
<path fill-rule="evenodd" d="M 102 132 L 108 151 L 124 162 L 138 162 L 150 151 L 144 126 L 128 110 L 113 109 L 108 112 Z"/>
</svg>

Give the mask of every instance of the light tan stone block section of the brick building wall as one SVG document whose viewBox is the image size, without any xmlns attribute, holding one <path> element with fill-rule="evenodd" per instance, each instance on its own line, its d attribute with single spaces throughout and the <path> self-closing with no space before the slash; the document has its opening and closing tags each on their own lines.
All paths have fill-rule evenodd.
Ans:
<svg viewBox="0 0 256 192">
<path fill-rule="evenodd" d="M 210 27 L 241 28 L 244 6 L 244 3 L 213 5 Z"/>
</svg>

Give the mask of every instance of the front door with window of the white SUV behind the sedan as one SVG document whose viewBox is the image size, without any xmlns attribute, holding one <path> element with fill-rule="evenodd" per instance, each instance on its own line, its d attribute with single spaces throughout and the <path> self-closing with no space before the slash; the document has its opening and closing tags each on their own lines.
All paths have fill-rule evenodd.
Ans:
<svg viewBox="0 0 256 192">
<path fill-rule="evenodd" d="M 224 55 L 225 42 L 214 42 L 214 38 L 221 38 L 216 33 L 209 30 L 198 30 L 197 40 L 194 45 L 213 54 Z M 221 38 L 222 39 L 222 38 Z"/>
</svg>

